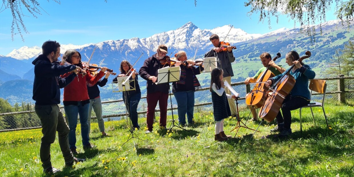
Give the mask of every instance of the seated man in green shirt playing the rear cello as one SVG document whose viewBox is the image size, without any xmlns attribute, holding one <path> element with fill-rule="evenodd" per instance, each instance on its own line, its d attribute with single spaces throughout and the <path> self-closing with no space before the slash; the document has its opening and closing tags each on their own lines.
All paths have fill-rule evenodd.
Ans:
<svg viewBox="0 0 354 177">
<path fill-rule="evenodd" d="M 274 61 L 272 61 L 272 57 L 270 56 L 270 54 L 268 52 L 263 52 L 261 54 L 261 56 L 259 56 L 259 58 L 261 58 L 263 67 L 261 69 L 259 69 L 258 72 L 255 74 L 255 76 L 253 76 L 252 78 L 250 78 L 250 77 L 246 78 L 245 84 L 249 84 L 250 82 L 256 82 L 259 74 L 264 72 L 264 70 L 266 70 L 269 65 L 271 66 L 271 67 L 269 67 L 269 70 L 275 76 L 277 76 L 281 73 L 284 73 L 285 68 L 283 68 L 281 65 L 275 64 Z M 253 120 L 257 120 L 258 115 L 256 113 L 256 109 L 252 109 L 251 107 L 249 107 L 249 108 L 251 109 Z"/>
</svg>

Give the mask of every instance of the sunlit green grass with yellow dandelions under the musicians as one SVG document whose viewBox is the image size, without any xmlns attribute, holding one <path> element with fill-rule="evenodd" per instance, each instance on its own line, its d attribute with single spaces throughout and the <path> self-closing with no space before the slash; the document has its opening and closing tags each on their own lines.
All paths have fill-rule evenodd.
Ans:
<svg viewBox="0 0 354 177">
<path fill-rule="evenodd" d="M 254 139 L 253 131 L 241 128 L 230 132 L 235 119 L 225 120 L 225 133 L 235 138 L 216 142 L 211 112 L 195 113 L 195 125 L 188 131 L 176 127 L 172 131 L 144 133 L 146 119 L 139 120 L 141 130 L 129 136 L 126 121 L 105 122 L 110 137 L 101 137 L 97 124 L 91 126 L 91 143 L 95 149 L 84 151 L 77 134 L 78 158 L 87 161 L 73 168 L 64 168 L 58 141 L 52 145 L 53 166 L 63 170 L 57 176 L 354 176 L 354 107 L 327 104 L 330 129 L 327 129 L 321 109 L 314 108 L 316 125 L 309 109 L 303 110 L 303 132 L 300 133 L 299 110 L 292 112 L 290 138 L 279 139 L 269 133 L 274 122 L 263 123 Z M 176 114 L 176 112 L 174 112 Z M 241 118 L 246 122 L 249 112 L 241 106 Z M 171 116 L 168 120 L 171 120 Z M 170 126 L 170 121 L 167 126 Z M 259 122 L 246 122 L 255 129 Z M 0 133 L 2 176 L 45 176 L 39 159 L 41 130 Z M 136 148 L 134 143 L 136 144 Z"/>
</svg>

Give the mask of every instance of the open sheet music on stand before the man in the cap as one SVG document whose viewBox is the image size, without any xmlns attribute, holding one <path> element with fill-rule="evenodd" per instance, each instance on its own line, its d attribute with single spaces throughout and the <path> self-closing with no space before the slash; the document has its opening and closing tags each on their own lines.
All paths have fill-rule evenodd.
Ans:
<svg viewBox="0 0 354 177">
<path fill-rule="evenodd" d="M 170 71 L 170 80 L 167 74 Z M 181 75 L 181 67 L 165 67 L 158 69 L 158 83 L 169 83 L 179 81 L 179 76 Z"/>
</svg>

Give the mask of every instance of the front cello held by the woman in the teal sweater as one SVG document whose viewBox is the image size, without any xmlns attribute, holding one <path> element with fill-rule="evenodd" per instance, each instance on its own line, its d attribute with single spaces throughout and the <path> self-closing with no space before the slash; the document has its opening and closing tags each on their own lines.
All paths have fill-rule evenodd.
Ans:
<svg viewBox="0 0 354 177">
<path fill-rule="evenodd" d="M 307 51 L 306 56 L 302 56 L 297 61 L 302 62 L 303 59 L 309 58 L 311 52 Z M 295 78 L 290 75 L 290 71 L 295 67 L 293 64 L 290 69 L 278 80 L 272 87 L 269 87 L 268 98 L 264 105 L 259 110 L 259 117 L 267 122 L 274 120 L 275 116 L 279 113 L 282 103 L 287 95 L 295 85 Z"/>
</svg>

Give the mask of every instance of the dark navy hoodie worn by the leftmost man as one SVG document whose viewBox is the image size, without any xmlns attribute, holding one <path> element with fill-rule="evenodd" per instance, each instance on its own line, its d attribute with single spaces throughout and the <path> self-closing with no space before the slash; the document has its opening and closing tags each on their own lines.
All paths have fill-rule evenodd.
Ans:
<svg viewBox="0 0 354 177">
<path fill-rule="evenodd" d="M 32 62 L 34 64 L 33 97 L 37 105 L 52 105 L 60 103 L 60 89 L 67 86 L 76 76 L 70 74 L 67 78 L 60 75 L 74 70 L 75 65 L 59 65 L 40 55 Z"/>
</svg>

